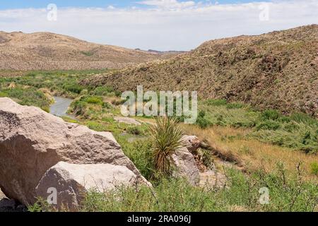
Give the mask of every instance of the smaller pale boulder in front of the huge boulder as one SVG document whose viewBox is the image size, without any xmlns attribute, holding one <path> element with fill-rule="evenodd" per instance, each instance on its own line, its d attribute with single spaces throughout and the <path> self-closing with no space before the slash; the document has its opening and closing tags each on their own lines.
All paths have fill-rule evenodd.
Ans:
<svg viewBox="0 0 318 226">
<path fill-rule="evenodd" d="M 45 172 L 35 191 L 55 208 L 74 211 L 88 191 L 105 192 L 118 186 L 134 186 L 136 174 L 110 164 L 76 165 L 59 162 Z"/>
</svg>

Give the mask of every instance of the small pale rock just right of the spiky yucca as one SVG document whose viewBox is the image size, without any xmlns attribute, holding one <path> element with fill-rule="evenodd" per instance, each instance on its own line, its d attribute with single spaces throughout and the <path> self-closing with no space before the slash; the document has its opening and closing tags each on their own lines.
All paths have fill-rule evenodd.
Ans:
<svg viewBox="0 0 318 226">
<path fill-rule="evenodd" d="M 196 136 L 183 136 L 184 147 L 179 148 L 172 155 L 172 162 L 175 165 L 175 177 L 184 177 L 187 181 L 196 186 L 199 184 L 200 171 L 194 160 L 192 151 L 199 148 L 200 141 Z"/>
</svg>

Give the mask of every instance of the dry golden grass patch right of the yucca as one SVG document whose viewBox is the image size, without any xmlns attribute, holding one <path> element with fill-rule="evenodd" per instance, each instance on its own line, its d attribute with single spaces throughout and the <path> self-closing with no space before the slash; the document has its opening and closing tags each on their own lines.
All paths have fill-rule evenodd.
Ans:
<svg viewBox="0 0 318 226">
<path fill-rule="evenodd" d="M 305 179 L 318 181 L 318 177 L 310 170 L 312 162 L 318 162 L 318 155 L 307 155 L 290 148 L 244 138 L 248 132 L 244 129 L 214 126 L 202 130 L 194 125 L 183 125 L 182 129 L 205 140 L 217 155 L 223 159 L 228 157 L 226 160 L 237 162 L 238 166 L 244 167 L 247 171 L 262 167 L 267 172 L 271 172 L 276 169 L 278 163 L 283 163 L 288 172 L 298 173 L 300 165 L 301 174 Z"/>
</svg>

